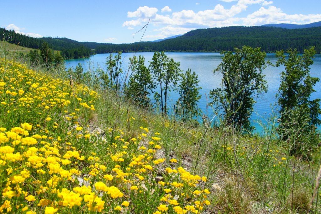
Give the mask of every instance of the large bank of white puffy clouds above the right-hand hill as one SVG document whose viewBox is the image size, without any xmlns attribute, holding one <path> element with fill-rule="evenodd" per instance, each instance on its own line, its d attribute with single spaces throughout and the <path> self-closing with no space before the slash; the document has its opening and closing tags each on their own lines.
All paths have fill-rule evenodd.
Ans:
<svg viewBox="0 0 321 214">
<path fill-rule="evenodd" d="M 128 29 L 144 26 L 149 22 L 152 30 L 146 32 L 145 38 L 165 38 L 184 34 L 198 28 L 225 27 L 232 25 L 254 26 L 269 23 L 307 24 L 321 21 L 321 14 L 286 14 L 281 8 L 266 0 L 221 0 L 231 3 L 229 7 L 216 4 L 204 11 L 171 11 L 164 6 L 160 12 L 155 7 L 143 6 L 134 12 L 128 12 L 131 20 L 123 23 Z M 196 3 L 198 4 L 198 3 Z M 254 11 L 244 15 L 247 10 Z M 162 14 L 167 12 L 167 14 Z M 171 12 L 171 13 L 169 13 Z M 169 14 L 168 14 L 169 13 Z M 150 27 L 151 28 L 151 27 Z"/>
</svg>

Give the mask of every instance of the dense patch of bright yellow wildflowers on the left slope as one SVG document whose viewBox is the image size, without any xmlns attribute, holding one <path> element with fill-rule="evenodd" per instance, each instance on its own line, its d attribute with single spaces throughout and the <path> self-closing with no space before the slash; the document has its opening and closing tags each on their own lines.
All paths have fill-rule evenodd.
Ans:
<svg viewBox="0 0 321 214">
<path fill-rule="evenodd" d="M 95 111 L 97 92 L 14 61 L 5 70 L 3 64 L 0 59 L 0 213 L 143 212 L 135 209 L 145 207 L 146 196 L 155 213 L 198 213 L 210 204 L 200 184 L 205 177 L 182 167 L 162 171 L 178 161 L 155 157 L 159 132 L 141 127 L 128 138 L 109 128 L 100 139 L 83 122 Z"/>
</svg>

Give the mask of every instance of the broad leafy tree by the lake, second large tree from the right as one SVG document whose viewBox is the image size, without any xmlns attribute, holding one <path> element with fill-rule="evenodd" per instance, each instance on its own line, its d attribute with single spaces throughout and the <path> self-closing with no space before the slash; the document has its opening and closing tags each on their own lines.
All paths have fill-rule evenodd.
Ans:
<svg viewBox="0 0 321 214">
<path fill-rule="evenodd" d="M 222 87 L 210 91 L 217 108 L 222 107 L 226 121 L 234 128 L 252 131 L 249 117 L 253 112 L 254 97 L 267 91 L 262 69 L 265 69 L 265 52 L 260 48 L 243 46 L 234 53 L 222 52 L 224 57 L 213 71 L 223 76 Z"/>
</svg>

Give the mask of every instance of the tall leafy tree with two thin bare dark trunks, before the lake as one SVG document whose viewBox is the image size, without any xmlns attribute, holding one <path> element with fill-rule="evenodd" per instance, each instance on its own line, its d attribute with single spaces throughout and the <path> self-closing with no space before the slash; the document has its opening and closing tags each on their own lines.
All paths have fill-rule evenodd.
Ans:
<svg viewBox="0 0 321 214">
<path fill-rule="evenodd" d="M 168 92 L 177 85 L 181 70 L 179 62 L 168 58 L 164 51 L 155 52 L 149 65 L 153 79 L 159 84 L 160 93 L 155 92 L 154 98 L 160 105 L 162 113 L 167 114 Z"/>
</svg>

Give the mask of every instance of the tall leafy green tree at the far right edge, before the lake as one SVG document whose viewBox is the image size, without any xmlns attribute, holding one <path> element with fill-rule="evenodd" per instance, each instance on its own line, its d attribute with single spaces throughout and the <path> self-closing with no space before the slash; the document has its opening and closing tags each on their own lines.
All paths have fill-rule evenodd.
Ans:
<svg viewBox="0 0 321 214">
<path fill-rule="evenodd" d="M 319 81 L 309 74 L 316 51 L 314 48 L 305 49 L 303 55 L 298 55 L 296 49 L 290 49 L 287 53 L 288 56 L 283 50 L 276 52 L 276 66 L 285 66 L 280 74 L 278 96 L 279 134 L 284 140 L 290 140 L 292 155 L 309 158 L 309 152 L 319 141 L 315 126 L 321 123 L 318 118 L 321 114 L 320 99 L 310 100 L 311 93 L 315 92 L 313 86 Z"/>
</svg>

